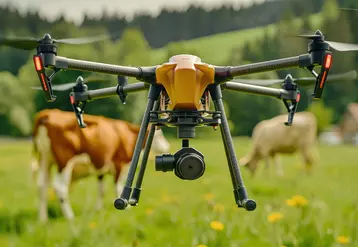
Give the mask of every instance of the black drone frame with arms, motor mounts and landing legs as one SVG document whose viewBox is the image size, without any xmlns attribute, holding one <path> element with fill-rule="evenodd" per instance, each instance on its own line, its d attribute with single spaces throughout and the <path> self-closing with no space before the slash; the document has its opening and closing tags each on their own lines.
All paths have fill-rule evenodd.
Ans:
<svg viewBox="0 0 358 247">
<path fill-rule="evenodd" d="M 316 32 L 316 35 L 322 36 L 322 33 L 318 30 Z M 48 41 L 49 37 L 50 36 L 46 34 L 44 36 L 44 39 Z M 233 91 L 241 91 L 246 93 L 273 96 L 278 99 L 282 99 L 289 113 L 288 121 L 286 122 L 286 125 L 291 125 L 300 97 L 299 91 L 297 89 L 297 85 L 295 83 L 290 82 L 290 80 L 286 78 L 287 80 L 285 80 L 285 83 L 282 84 L 282 89 L 274 89 L 274 88 L 267 88 L 263 86 L 255 86 L 255 85 L 231 82 L 230 80 L 232 80 L 236 76 L 243 76 L 243 75 L 260 73 L 265 71 L 273 71 L 273 70 L 280 70 L 280 69 L 287 69 L 287 68 L 294 68 L 294 67 L 306 68 L 316 78 L 313 97 L 319 99 L 322 95 L 324 84 L 327 79 L 329 69 L 332 65 L 332 52 L 329 51 L 329 44 L 325 42 L 323 39 L 313 39 L 309 43 L 308 48 L 309 49 L 307 54 L 276 59 L 271 61 L 241 65 L 241 66 L 208 65 L 208 64 L 201 63 L 201 60 L 196 56 L 179 55 L 180 58 L 183 58 L 183 60 L 192 60 L 191 62 L 186 62 L 189 63 L 189 65 L 187 64 L 189 67 L 194 68 L 196 67 L 197 64 L 205 65 L 208 67 L 208 71 L 209 70 L 211 71 L 211 72 L 209 71 L 208 73 L 212 73 L 211 74 L 212 77 L 210 81 L 207 84 L 205 84 L 205 86 L 203 86 L 202 90 L 204 90 L 203 92 L 207 92 L 210 94 L 211 99 L 215 106 L 215 112 L 211 112 L 212 119 L 207 123 L 205 123 L 204 121 L 203 124 L 211 125 L 213 126 L 213 128 L 216 128 L 218 125 L 220 125 L 222 141 L 224 144 L 225 154 L 227 157 L 229 172 L 233 185 L 235 202 L 238 207 L 243 207 L 247 211 L 255 210 L 256 202 L 248 198 L 248 194 L 241 176 L 240 168 L 238 165 L 238 159 L 235 154 L 235 148 L 232 141 L 232 136 L 230 133 L 230 129 L 224 109 L 222 90 L 227 89 Z M 168 125 L 168 122 L 163 122 L 163 121 L 160 122 L 158 118 L 158 114 L 162 113 L 158 111 L 160 106 L 161 93 L 163 91 L 168 90 L 168 85 L 166 87 L 162 82 L 160 81 L 158 82 L 157 71 L 159 67 L 164 66 L 165 64 L 159 66 L 157 65 L 157 66 L 147 66 L 147 67 L 129 67 L 129 66 L 119 66 L 113 64 L 71 59 L 71 58 L 57 56 L 56 45 L 53 43 L 50 44 L 48 42 L 43 44 L 40 43 L 38 45 L 37 54 L 34 55 L 33 60 L 35 64 L 35 69 L 38 73 L 42 85 L 45 99 L 49 102 L 53 102 L 56 99 L 56 96 L 52 92 L 51 79 L 59 71 L 79 70 L 79 71 L 86 71 L 86 72 L 113 74 L 118 76 L 119 83 L 116 87 L 88 90 L 87 86 L 82 81 L 82 83 L 78 84 L 78 87 L 76 86 L 73 88 L 73 92 L 71 92 L 70 94 L 70 100 L 74 112 L 76 113 L 77 120 L 80 127 L 85 127 L 81 115 L 83 112 L 83 107 L 81 108 L 81 106 L 84 106 L 86 102 L 98 98 L 109 97 L 112 95 L 119 95 L 122 103 L 125 103 L 125 98 L 128 93 L 149 90 L 148 102 L 140 125 L 140 131 L 134 148 L 134 153 L 129 167 L 126 183 L 120 198 L 117 198 L 114 202 L 115 207 L 120 210 L 125 209 L 128 205 L 132 205 L 132 206 L 138 205 L 139 197 L 141 193 L 141 185 L 143 182 L 146 164 L 148 161 L 149 151 L 151 149 L 151 144 L 153 141 L 155 127 Z M 173 68 L 175 68 L 175 65 L 173 65 L 173 61 L 170 62 L 171 63 L 169 63 L 168 66 L 172 66 Z M 314 71 L 314 67 L 316 66 L 321 66 L 321 71 L 319 74 L 317 74 Z M 53 70 L 52 74 L 47 76 L 47 74 L 45 73 L 45 68 L 52 69 Z M 197 71 L 200 69 L 194 68 L 194 70 Z M 140 82 L 133 83 L 133 84 L 125 84 L 123 82 L 120 83 L 120 78 L 123 77 L 134 77 Z M 78 81 L 80 82 L 80 79 L 78 79 Z M 200 93 L 203 92 L 201 91 Z M 181 94 L 183 93 L 184 92 L 181 92 Z M 197 102 L 192 102 L 192 103 L 196 104 Z M 176 111 L 174 109 L 172 111 L 172 114 L 179 114 L 178 112 L 180 111 Z M 197 114 L 199 111 L 198 109 L 189 107 L 181 112 L 184 112 L 185 114 L 189 114 L 189 113 Z M 179 115 L 177 116 L 178 119 L 181 118 Z M 190 117 L 195 119 L 193 115 L 191 115 Z M 203 122 L 203 119 L 200 119 L 200 117 L 196 118 L 196 120 L 197 122 L 193 121 L 189 123 L 189 125 L 191 124 L 195 128 L 197 125 L 199 125 L 199 122 Z M 188 125 L 188 123 L 180 124 L 179 122 L 180 121 L 178 120 L 177 127 Z M 144 143 L 146 131 L 150 123 L 151 123 L 151 127 L 149 131 L 148 139 L 147 142 Z M 183 148 L 188 148 L 189 139 L 194 138 L 194 135 L 192 135 L 192 133 L 179 134 L 178 131 L 178 138 L 181 138 L 183 140 Z M 145 144 L 144 155 L 138 173 L 138 178 L 136 181 L 135 188 L 132 188 L 135 172 L 141 154 L 141 149 L 144 144 Z"/>
</svg>

